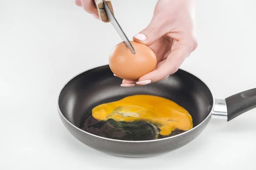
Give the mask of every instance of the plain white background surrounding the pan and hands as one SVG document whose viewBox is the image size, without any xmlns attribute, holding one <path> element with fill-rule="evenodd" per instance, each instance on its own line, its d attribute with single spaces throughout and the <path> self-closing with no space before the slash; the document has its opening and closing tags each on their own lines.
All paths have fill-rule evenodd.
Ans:
<svg viewBox="0 0 256 170">
<path fill-rule="evenodd" d="M 112 0 L 131 39 L 156 0 Z M 256 87 L 255 0 L 198 0 L 199 46 L 181 68 L 216 98 Z M 74 75 L 108 64 L 120 38 L 73 0 L 0 0 L 1 170 L 255 170 L 256 110 L 214 120 L 186 146 L 150 158 L 122 158 L 76 140 L 57 113 L 57 94 Z"/>
</svg>

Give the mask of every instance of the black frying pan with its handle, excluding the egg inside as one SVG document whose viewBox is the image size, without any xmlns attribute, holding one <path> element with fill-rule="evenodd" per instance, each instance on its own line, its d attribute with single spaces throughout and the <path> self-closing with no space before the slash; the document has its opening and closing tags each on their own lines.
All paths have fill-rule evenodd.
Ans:
<svg viewBox="0 0 256 170">
<path fill-rule="evenodd" d="M 212 91 L 203 81 L 181 69 L 168 79 L 148 85 L 125 88 L 120 84 L 122 79 L 113 76 L 109 65 L 104 65 L 73 77 L 58 94 L 58 113 L 67 130 L 87 146 L 115 156 L 156 156 L 175 150 L 195 139 L 212 116 L 230 121 L 256 108 L 256 88 L 226 99 L 214 99 Z M 189 111 L 193 128 L 176 136 L 147 141 L 108 139 L 79 128 L 84 117 L 96 105 L 136 94 L 171 99 Z"/>
</svg>

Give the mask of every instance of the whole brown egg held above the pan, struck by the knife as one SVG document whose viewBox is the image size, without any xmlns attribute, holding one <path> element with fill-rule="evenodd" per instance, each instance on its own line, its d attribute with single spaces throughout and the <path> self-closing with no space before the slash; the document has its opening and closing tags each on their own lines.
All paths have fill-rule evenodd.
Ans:
<svg viewBox="0 0 256 170">
<path fill-rule="evenodd" d="M 117 44 L 110 53 L 109 66 L 113 74 L 127 80 L 139 79 L 154 70 L 157 57 L 147 45 L 131 41 L 136 54 L 132 54 L 123 42 Z"/>
</svg>

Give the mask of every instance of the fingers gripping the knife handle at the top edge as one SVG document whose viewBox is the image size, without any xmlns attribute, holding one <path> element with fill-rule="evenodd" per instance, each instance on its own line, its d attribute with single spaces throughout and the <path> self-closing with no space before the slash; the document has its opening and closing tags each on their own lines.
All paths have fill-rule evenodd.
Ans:
<svg viewBox="0 0 256 170">
<path fill-rule="evenodd" d="M 96 19 L 99 19 L 98 10 L 95 6 L 94 0 L 75 0 L 77 6 L 81 6 L 87 11 L 89 14 Z"/>
</svg>

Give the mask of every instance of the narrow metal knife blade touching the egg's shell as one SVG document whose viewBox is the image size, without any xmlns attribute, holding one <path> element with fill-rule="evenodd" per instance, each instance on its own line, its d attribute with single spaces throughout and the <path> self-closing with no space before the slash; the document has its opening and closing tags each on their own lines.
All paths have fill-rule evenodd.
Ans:
<svg viewBox="0 0 256 170">
<path fill-rule="evenodd" d="M 113 27 L 116 29 L 117 33 L 122 38 L 122 40 L 125 43 L 125 45 L 127 46 L 127 48 L 131 51 L 132 54 L 135 54 L 136 52 L 134 50 L 134 47 L 131 45 L 131 42 L 126 37 L 124 31 L 122 30 L 121 26 L 119 25 L 119 23 L 117 22 L 116 18 L 113 15 L 113 13 L 111 12 L 111 9 L 109 8 L 108 4 L 106 3 L 105 0 L 103 0 L 103 2 L 105 4 L 105 10 L 106 10 L 106 13 L 108 16 L 108 20 L 111 22 Z"/>
</svg>

